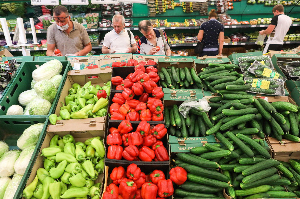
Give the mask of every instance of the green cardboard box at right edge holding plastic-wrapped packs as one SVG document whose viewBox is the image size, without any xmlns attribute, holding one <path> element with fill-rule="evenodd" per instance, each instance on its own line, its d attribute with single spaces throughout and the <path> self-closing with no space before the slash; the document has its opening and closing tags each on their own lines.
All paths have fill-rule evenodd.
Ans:
<svg viewBox="0 0 300 199">
<path fill-rule="evenodd" d="M 291 60 L 296 61 L 300 60 L 300 54 L 274 54 L 272 57 L 272 63 L 274 65 L 274 69 L 280 73 L 283 77 L 285 77 L 287 80 L 285 81 L 286 87 L 289 89 L 289 91 L 292 91 L 295 89 L 295 87 L 300 86 L 300 81 L 298 78 L 295 78 L 295 80 L 291 79 L 288 75 L 283 72 L 280 67 L 277 64 L 277 61 L 285 61 L 285 60 Z"/>
</svg>

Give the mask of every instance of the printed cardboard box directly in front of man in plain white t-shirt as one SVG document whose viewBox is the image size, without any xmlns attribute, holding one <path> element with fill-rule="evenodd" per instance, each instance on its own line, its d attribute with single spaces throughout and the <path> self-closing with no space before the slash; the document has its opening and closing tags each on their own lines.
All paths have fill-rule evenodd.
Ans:
<svg viewBox="0 0 300 199">
<path fill-rule="evenodd" d="M 132 58 L 131 53 L 120 53 L 120 54 L 100 54 L 100 67 L 105 68 L 107 66 L 112 67 L 113 62 L 128 62 Z"/>
</svg>

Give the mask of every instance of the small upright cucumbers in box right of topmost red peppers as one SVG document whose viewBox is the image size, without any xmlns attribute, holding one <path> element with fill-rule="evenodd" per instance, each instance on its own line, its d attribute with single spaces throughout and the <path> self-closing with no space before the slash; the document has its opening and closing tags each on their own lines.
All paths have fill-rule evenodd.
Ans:
<svg viewBox="0 0 300 199">
<path fill-rule="evenodd" d="M 198 89 L 203 87 L 194 68 L 175 68 L 175 66 L 162 67 L 158 75 L 163 88 Z"/>
</svg>

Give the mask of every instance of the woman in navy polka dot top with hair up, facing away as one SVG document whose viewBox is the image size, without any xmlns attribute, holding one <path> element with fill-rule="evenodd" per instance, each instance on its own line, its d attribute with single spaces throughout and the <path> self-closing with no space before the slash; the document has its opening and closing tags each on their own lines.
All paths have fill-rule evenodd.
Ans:
<svg viewBox="0 0 300 199">
<path fill-rule="evenodd" d="M 199 57 L 204 55 L 216 56 L 222 54 L 224 42 L 224 26 L 217 21 L 217 13 L 212 9 L 208 16 L 209 21 L 204 22 L 200 26 L 198 33 L 198 40 L 204 42 L 202 53 Z M 218 38 L 220 44 L 218 45 Z"/>
</svg>

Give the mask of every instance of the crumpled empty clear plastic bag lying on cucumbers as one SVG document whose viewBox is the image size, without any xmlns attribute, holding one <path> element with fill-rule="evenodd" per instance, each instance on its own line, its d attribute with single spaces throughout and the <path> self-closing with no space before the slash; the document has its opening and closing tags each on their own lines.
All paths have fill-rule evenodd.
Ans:
<svg viewBox="0 0 300 199">
<path fill-rule="evenodd" d="M 206 99 L 203 97 L 202 99 L 199 99 L 199 101 L 196 101 L 196 99 L 188 99 L 184 101 L 178 108 L 180 114 L 183 115 L 184 118 L 187 117 L 190 109 L 195 109 L 201 112 L 208 112 L 210 110 L 210 106 L 208 105 Z"/>
</svg>

